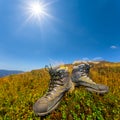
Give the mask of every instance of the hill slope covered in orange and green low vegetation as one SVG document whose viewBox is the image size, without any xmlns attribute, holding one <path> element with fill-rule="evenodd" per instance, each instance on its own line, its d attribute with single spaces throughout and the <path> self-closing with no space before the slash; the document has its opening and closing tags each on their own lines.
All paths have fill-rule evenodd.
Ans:
<svg viewBox="0 0 120 120">
<path fill-rule="evenodd" d="M 91 63 L 92 64 L 92 63 Z M 108 85 L 104 96 L 87 92 L 84 87 L 66 94 L 58 109 L 45 120 L 119 120 L 120 63 L 92 64 L 90 77 Z M 66 65 L 72 69 L 72 65 Z M 33 70 L 0 79 L 0 120 L 39 120 L 32 111 L 35 101 L 48 88 L 50 76 L 45 69 Z"/>
</svg>

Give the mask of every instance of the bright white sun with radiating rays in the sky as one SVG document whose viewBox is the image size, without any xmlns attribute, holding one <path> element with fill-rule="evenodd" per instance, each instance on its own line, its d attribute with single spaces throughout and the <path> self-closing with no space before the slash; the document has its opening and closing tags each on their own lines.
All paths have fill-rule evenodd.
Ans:
<svg viewBox="0 0 120 120">
<path fill-rule="evenodd" d="M 40 23 L 47 18 L 53 18 L 49 13 L 49 6 L 52 3 L 53 1 L 45 3 L 43 0 L 28 0 L 24 7 L 27 22 L 33 20 Z"/>
</svg>

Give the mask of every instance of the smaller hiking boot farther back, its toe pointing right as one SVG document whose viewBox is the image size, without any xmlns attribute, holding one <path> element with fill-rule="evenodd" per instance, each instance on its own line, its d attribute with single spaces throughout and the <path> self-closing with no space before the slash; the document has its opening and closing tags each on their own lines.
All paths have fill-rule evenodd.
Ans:
<svg viewBox="0 0 120 120">
<path fill-rule="evenodd" d="M 96 92 L 99 94 L 108 93 L 109 88 L 102 84 L 96 84 L 88 76 L 90 71 L 89 64 L 80 64 L 73 67 L 72 82 L 75 86 L 85 86 L 90 92 Z"/>
</svg>

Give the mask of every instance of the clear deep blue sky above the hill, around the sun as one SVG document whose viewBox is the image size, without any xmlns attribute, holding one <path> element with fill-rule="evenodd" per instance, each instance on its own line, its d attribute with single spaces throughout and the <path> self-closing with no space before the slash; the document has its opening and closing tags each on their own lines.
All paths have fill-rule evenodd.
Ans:
<svg viewBox="0 0 120 120">
<path fill-rule="evenodd" d="M 56 0 L 46 7 L 52 17 L 41 21 L 27 20 L 26 3 L 0 1 L 0 69 L 81 59 L 120 62 L 119 0 Z"/>
</svg>

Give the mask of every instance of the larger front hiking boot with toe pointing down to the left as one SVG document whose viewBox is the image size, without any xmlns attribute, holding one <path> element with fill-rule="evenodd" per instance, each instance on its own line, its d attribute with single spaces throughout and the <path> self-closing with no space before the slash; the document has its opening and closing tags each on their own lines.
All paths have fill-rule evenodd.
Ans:
<svg viewBox="0 0 120 120">
<path fill-rule="evenodd" d="M 33 106 L 36 115 L 44 116 L 59 105 L 64 94 L 70 89 L 72 81 L 67 68 L 48 68 L 50 83 L 47 93 Z"/>
</svg>

